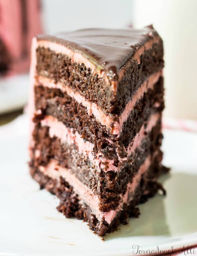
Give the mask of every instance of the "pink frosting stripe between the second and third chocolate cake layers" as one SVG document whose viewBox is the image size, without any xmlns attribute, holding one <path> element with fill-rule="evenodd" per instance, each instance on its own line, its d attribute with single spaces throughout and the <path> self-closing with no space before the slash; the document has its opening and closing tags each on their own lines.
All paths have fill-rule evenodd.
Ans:
<svg viewBox="0 0 197 256">
<path fill-rule="evenodd" d="M 140 146 L 143 138 L 146 137 L 145 132 L 150 132 L 151 129 L 156 125 L 158 119 L 160 118 L 160 114 L 156 113 L 150 116 L 149 120 L 145 122 L 141 130 L 137 133 L 134 140 L 131 141 L 129 146 L 127 147 L 127 155 L 128 157 L 132 152 L 135 151 L 137 147 Z M 94 144 L 89 141 L 85 141 L 81 138 L 81 135 L 75 131 L 73 128 L 66 127 L 62 122 L 58 121 L 53 116 L 45 116 L 43 120 L 41 120 L 42 126 L 49 127 L 49 135 L 51 138 L 53 136 L 59 138 L 62 143 L 68 143 L 69 145 L 75 144 L 77 146 L 78 152 L 83 154 L 83 156 L 88 157 L 92 163 L 97 166 L 98 171 L 100 169 L 104 169 L 105 171 L 120 171 L 118 166 L 114 166 L 114 160 L 106 159 L 100 152 L 97 155 L 94 155 Z M 144 127 L 146 125 L 146 129 Z M 111 141 L 110 143 L 113 143 Z M 120 162 L 127 160 L 127 158 L 120 159 Z M 105 165 L 103 163 L 107 163 L 108 168 L 105 169 Z"/>
</svg>

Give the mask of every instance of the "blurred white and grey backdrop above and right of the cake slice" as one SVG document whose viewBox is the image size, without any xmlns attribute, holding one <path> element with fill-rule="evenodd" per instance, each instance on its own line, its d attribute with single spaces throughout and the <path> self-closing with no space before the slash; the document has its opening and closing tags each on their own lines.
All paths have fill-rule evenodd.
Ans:
<svg viewBox="0 0 197 256">
<path fill-rule="evenodd" d="M 196 0 L 43 0 L 47 33 L 154 24 L 165 49 L 165 115 L 197 119 Z"/>
</svg>

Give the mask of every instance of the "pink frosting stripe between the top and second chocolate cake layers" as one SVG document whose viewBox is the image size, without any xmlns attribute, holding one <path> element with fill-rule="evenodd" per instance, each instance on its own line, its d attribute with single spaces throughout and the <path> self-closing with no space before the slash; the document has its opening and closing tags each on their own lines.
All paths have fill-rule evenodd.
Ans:
<svg viewBox="0 0 197 256">
<path fill-rule="evenodd" d="M 87 108 L 88 115 L 94 115 L 96 120 L 98 120 L 102 125 L 105 125 L 111 130 L 113 135 L 120 136 L 122 125 L 127 120 L 130 112 L 135 107 L 136 102 L 143 97 L 143 94 L 147 92 L 148 89 L 153 89 L 154 84 L 159 80 L 162 75 L 162 71 L 159 71 L 151 76 L 138 88 L 137 92 L 133 95 L 132 100 L 130 100 L 123 111 L 123 113 L 118 117 L 119 121 L 114 121 L 114 117 L 117 115 L 107 115 L 105 114 L 96 103 L 91 103 L 86 100 L 84 96 L 80 95 L 78 92 L 74 92 L 68 85 L 62 84 L 60 82 L 55 83 L 52 79 L 38 76 L 37 85 L 42 85 L 48 88 L 60 89 L 66 92 L 70 97 L 74 98 L 78 103 L 81 103 Z"/>
</svg>

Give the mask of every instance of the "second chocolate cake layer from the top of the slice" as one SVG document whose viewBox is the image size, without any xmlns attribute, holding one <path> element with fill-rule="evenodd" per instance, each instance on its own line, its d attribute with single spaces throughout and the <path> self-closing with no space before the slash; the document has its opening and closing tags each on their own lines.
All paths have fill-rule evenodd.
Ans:
<svg viewBox="0 0 197 256">
<path fill-rule="evenodd" d="M 52 115 L 66 126 L 76 129 L 82 138 L 95 143 L 95 150 L 108 144 L 106 139 L 116 139 L 106 126 L 101 125 L 94 115 L 88 115 L 87 108 L 78 104 L 75 99 L 60 89 L 35 86 L 35 108 L 41 109 L 46 115 Z M 148 89 L 143 97 L 137 101 L 127 120 L 123 123 L 119 141 L 125 147 L 139 132 L 144 121 L 151 113 L 164 109 L 163 77 L 154 85 L 153 90 Z M 116 117 L 115 117 L 116 118 Z M 129 131 L 129 133 L 128 133 Z"/>
</svg>

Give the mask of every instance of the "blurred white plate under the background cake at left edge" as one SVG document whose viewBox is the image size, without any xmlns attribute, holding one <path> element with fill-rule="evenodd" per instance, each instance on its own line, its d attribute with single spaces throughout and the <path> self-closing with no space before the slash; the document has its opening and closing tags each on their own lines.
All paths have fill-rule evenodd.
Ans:
<svg viewBox="0 0 197 256">
<path fill-rule="evenodd" d="M 0 79 L 0 114 L 22 108 L 28 100 L 29 74 Z"/>
</svg>

